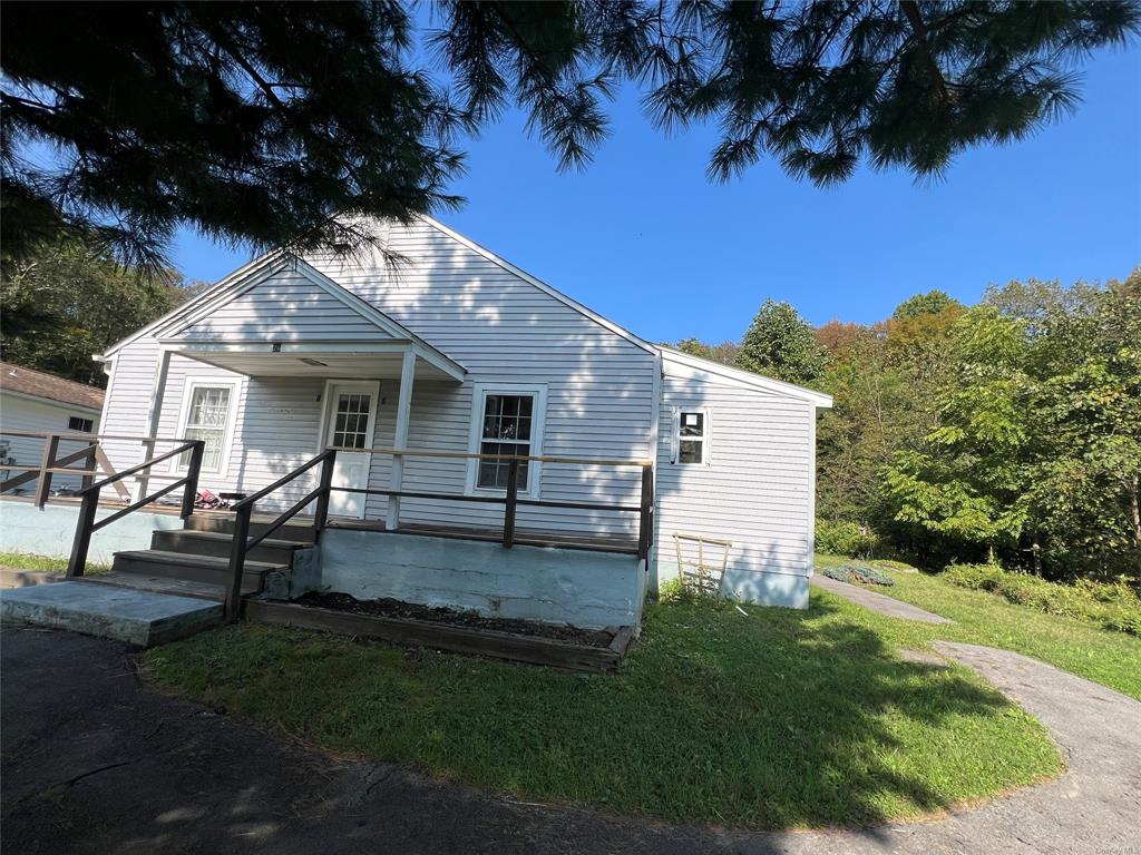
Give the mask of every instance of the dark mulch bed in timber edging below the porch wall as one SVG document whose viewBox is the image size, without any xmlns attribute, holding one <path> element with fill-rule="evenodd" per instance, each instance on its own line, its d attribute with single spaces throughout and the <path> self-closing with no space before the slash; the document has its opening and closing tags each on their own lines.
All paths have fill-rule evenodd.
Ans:
<svg viewBox="0 0 1141 855">
<path fill-rule="evenodd" d="M 322 609 L 347 611 L 356 614 L 427 620 L 435 624 L 447 624 L 450 626 L 468 627 L 471 629 L 493 629 L 515 635 L 553 638 L 574 644 L 584 644 L 591 648 L 608 648 L 614 640 L 613 633 L 601 629 L 578 629 L 566 624 L 540 624 L 533 620 L 485 618 L 474 611 L 420 605 L 418 603 L 406 603 L 403 600 L 357 600 L 349 594 L 310 591 L 293 602 L 300 605 L 315 605 Z"/>
</svg>

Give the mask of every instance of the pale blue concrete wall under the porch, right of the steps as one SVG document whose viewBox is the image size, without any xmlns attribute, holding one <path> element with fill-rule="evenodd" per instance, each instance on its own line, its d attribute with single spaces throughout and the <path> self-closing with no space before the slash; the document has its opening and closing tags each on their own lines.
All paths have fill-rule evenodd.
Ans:
<svg viewBox="0 0 1141 855">
<path fill-rule="evenodd" d="M 322 585 L 359 600 L 470 609 L 583 628 L 633 626 L 646 571 L 634 555 L 326 529 Z"/>
</svg>

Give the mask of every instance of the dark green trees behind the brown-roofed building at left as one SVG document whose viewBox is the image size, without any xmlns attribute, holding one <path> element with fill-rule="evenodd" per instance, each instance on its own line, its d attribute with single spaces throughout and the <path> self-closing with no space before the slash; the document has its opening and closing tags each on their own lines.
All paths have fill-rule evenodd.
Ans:
<svg viewBox="0 0 1141 855">
<path fill-rule="evenodd" d="M 194 286 L 200 287 L 200 286 Z M 180 277 L 146 277 L 75 241 L 40 244 L 0 275 L 5 360 L 103 386 L 91 356 L 179 306 Z"/>
</svg>

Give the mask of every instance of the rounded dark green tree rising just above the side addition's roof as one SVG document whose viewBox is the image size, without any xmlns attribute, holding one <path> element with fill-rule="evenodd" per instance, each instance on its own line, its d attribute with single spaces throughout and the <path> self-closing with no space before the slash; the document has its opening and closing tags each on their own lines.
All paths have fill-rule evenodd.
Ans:
<svg viewBox="0 0 1141 855">
<path fill-rule="evenodd" d="M 824 373 L 827 359 L 796 310 L 769 299 L 745 332 L 737 367 L 790 383 L 811 383 Z"/>
</svg>

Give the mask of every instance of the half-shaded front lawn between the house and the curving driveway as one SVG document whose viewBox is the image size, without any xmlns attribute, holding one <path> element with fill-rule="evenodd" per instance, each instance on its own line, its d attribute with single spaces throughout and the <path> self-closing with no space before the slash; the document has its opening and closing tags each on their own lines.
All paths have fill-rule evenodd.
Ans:
<svg viewBox="0 0 1141 855">
<path fill-rule="evenodd" d="M 650 605 L 618 675 L 236 625 L 148 651 L 151 679 L 323 749 L 525 799 L 747 828 L 938 813 L 1058 773 L 970 670 L 901 660 L 911 621 Z"/>
</svg>

